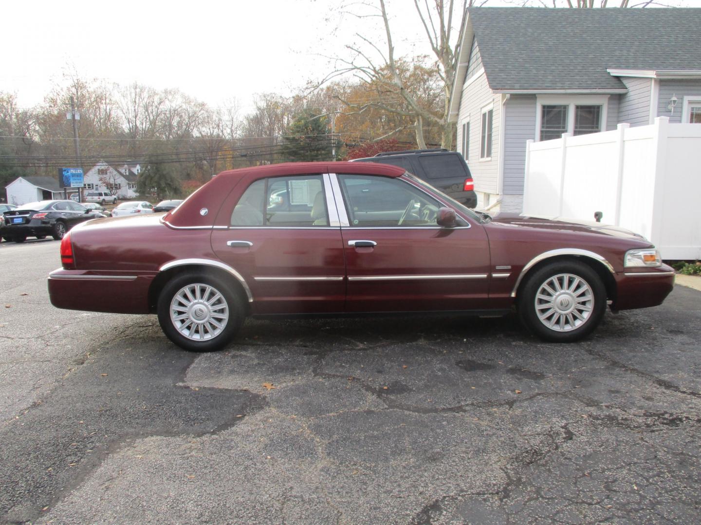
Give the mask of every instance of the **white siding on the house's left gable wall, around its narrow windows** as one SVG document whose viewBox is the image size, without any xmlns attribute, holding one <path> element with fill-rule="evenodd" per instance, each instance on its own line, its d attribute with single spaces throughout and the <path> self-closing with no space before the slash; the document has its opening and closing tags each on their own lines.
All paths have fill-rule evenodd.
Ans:
<svg viewBox="0 0 701 525">
<path fill-rule="evenodd" d="M 501 109 L 501 97 L 494 94 L 489 88 L 484 73 L 470 78 L 463 85 L 463 94 L 460 100 L 458 123 L 470 120 L 470 172 L 475 179 L 475 191 L 484 193 L 498 193 L 499 173 L 499 116 Z M 492 130 L 491 130 L 491 159 L 479 160 L 479 146 L 482 123 L 482 109 L 493 104 Z M 458 126 L 458 144 L 463 144 L 462 126 Z"/>
</svg>

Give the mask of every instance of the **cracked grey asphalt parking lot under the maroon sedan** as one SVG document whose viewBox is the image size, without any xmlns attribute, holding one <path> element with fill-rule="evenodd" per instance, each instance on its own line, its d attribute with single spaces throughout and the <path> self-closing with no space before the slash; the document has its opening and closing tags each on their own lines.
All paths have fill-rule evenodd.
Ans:
<svg viewBox="0 0 701 525">
<path fill-rule="evenodd" d="M 248 321 L 197 355 L 153 316 L 53 309 L 56 241 L 0 261 L 0 522 L 698 523 L 696 290 L 578 344 L 515 318 Z"/>
</svg>

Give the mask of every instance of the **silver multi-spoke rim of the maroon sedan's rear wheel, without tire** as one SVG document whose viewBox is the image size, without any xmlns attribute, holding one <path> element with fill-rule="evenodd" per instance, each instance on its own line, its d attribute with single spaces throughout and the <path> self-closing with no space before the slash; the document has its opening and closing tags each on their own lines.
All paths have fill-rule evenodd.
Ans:
<svg viewBox="0 0 701 525">
<path fill-rule="evenodd" d="M 203 283 L 189 284 L 173 296 L 170 320 L 188 339 L 213 339 L 224 331 L 229 321 L 229 305 L 216 288 Z"/>
</svg>

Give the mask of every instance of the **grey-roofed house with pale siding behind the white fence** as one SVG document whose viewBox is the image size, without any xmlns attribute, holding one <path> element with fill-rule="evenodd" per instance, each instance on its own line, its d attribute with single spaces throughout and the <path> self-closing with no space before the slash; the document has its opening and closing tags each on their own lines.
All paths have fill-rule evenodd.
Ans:
<svg viewBox="0 0 701 525">
<path fill-rule="evenodd" d="M 478 207 L 521 211 L 526 141 L 701 123 L 701 8 L 468 8 L 450 118 Z"/>
</svg>

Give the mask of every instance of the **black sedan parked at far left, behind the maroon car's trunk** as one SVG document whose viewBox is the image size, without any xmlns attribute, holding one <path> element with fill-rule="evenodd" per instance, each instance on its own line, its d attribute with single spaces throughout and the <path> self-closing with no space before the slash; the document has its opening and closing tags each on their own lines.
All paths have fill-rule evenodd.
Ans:
<svg viewBox="0 0 701 525">
<path fill-rule="evenodd" d="M 78 223 L 102 217 L 72 200 L 43 200 L 22 204 L 4 214 L 1 235 L 8 241 L 24 242 L 27 237 L 62 239 Z"/>
</svg>

